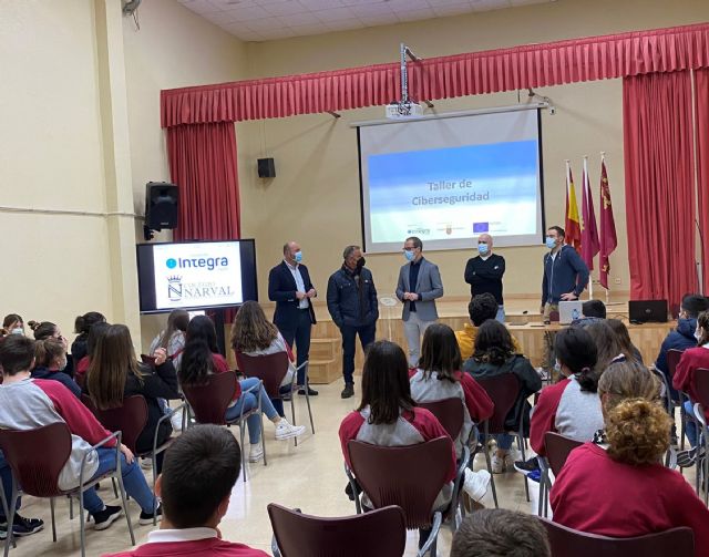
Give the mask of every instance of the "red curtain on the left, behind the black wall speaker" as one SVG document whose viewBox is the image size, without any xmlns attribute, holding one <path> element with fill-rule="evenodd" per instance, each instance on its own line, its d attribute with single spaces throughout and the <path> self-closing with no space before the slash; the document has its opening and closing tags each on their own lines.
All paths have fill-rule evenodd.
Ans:
<svg viewBox="0 0 709 557">
<path fill-rule="evenodd" d="M 176 240 L 239 238 L 236 132 L 230 122 L 167 128 L 169 174 L 179 186 Z"/>
</svg>

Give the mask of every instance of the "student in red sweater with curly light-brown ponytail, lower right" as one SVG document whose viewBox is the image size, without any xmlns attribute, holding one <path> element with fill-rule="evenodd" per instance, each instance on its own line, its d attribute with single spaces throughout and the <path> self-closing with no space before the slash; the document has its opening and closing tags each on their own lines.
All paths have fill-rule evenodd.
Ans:
<svg viewBox="0 0 709 557">
<path fill-rule="evenodd" d="M 598 393 L 605 434 L 568 456 L 551 492 L 554 520 L 624 538 L 688 526 L 695 555 L 709 556 L 709 509 L 679 473 L 660 463 L 671 421 L 657 401 L 657 378 L 636 362 L 613 363 Z"/>
</svg>

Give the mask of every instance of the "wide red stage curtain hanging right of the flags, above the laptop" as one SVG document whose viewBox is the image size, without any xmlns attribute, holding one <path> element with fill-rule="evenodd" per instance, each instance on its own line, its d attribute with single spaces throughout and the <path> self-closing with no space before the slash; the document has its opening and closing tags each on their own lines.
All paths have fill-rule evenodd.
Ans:
<svg viewBox="0 0 709 557">
<path fill-rule="evenodd" d="M 676 309 L 697 290 L 690 72 L 623 82 L 631 299 Z"/>
</svg>

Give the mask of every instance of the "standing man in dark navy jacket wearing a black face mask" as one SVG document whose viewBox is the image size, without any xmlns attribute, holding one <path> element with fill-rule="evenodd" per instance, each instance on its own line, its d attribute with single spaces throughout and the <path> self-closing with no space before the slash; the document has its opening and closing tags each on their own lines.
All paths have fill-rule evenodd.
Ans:
<svg viewBox="0 0 709 557">
<path fill-rule="evenodd" d="M 364 268 L 359 246 L 348 246 L 342 252 L 345 262 L 328 280 L 328 311 L 342 334 L 342 399 L 354 395 L 356 338 L 362 350 L 374 341 L 379 307 L 372 274 Z"/>
</svg>

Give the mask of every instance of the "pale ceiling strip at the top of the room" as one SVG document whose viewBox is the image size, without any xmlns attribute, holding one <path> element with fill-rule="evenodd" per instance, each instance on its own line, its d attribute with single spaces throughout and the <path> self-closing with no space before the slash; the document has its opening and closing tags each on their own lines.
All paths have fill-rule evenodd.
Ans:
<svg viewBox="0 0 709 557">
<path fill-rule="evenodd" d="M 178 0 L 243 41 L 270 41 L 555 0 Z"/>
</svg>

